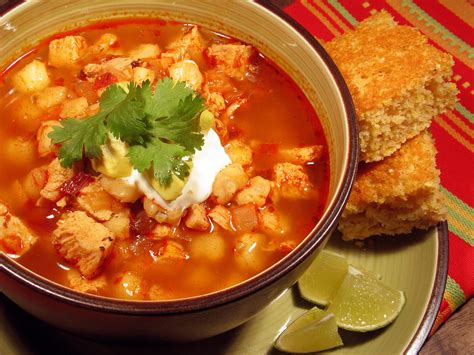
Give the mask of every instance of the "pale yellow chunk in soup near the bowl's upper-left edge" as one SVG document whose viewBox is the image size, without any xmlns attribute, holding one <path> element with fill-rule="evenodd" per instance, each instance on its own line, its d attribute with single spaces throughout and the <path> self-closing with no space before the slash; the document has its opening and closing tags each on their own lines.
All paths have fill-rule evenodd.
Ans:
<svg viewBox="0 0 474 355">
<path fill-rule="evenodd" d="M 33 60 L 13 76 L 13 86 L 19 92 L 34 92 L 46 88 L 50 79 L 46 65 L 39 60 Z"/>
</svg>

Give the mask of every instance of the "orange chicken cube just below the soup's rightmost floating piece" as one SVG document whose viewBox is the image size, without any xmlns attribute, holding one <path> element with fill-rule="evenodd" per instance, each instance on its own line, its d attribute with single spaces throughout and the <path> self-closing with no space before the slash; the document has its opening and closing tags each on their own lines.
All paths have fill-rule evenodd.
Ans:
<svg viewBox="0 0 474 355">
<path fill-rule="evenodd" d="M 278 163 L 273 167 L 273 180 L 281 197 L 307 198 L 311 190 L 309 177 L 300 165 Z"/>
</svg>

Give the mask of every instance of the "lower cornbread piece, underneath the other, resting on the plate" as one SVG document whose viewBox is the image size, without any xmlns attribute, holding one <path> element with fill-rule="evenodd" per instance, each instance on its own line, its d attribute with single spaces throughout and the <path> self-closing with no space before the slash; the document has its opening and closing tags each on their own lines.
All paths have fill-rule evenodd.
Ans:
<svg viewBox="0 0 474 355">
<path fill-rule="evenodd" d="M 436 148 L 424 131 L 392 156 L 361 163 L 339 223 L 344 240 L 409 233 L 446 219 Z"/>
</svg>

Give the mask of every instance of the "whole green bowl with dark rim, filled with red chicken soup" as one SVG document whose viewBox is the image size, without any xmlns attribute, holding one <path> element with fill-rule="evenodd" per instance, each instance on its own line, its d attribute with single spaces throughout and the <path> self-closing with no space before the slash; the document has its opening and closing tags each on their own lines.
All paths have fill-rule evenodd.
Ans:
<svg viewBox="0 0 474 355">
<path fill-rule="evenodd" d="M 27 1 L 2 15 L 0 290 L 86 336 L 254 316 L 334 230 L 349 92 L 266 2 Z"/>
</svg>

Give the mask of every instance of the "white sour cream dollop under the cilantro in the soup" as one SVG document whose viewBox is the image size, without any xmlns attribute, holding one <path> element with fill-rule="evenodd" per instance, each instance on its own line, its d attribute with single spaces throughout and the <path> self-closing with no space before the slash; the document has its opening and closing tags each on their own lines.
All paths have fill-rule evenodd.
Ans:
<svg viewBox="0 0 474 355">
<path fill-rule="evenodd" d="M 221 144 L 217 133 L 210 129 L 204 135 L 204 144 L 193 156 L 193 166 L 189 178 L 175 200 L 166 201 L 151 186 L 148 180 L 138 170 L 124 178 L 129 184 L 136 185 L 143 194 L 153 202 L 168 210 L 184 210 L 189 206 L 201 203 L 209 198 L 214 180 L 222 169 L 231 163 L 231 160 Z"/>
</svg>

